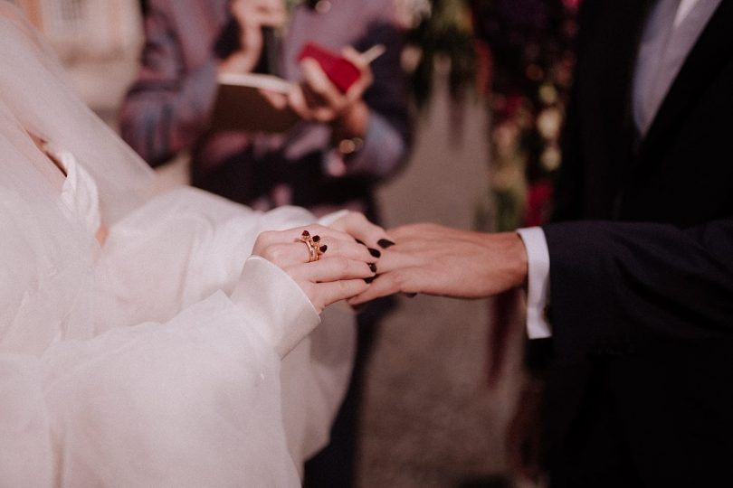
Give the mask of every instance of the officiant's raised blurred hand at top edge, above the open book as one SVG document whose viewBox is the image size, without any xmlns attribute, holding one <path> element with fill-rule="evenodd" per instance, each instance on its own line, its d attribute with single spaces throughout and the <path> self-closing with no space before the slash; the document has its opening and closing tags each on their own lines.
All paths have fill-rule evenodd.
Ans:
<svg viewBox="0 0 733 488">
<path fill-rule="evenodd" d="M 262 54 L 262 27 L 279 28 L 287 21 L 283 0 L 233 0 L 229 6 L 239 25 L 240 49 L 220 61 L 220 72 L 254 70 Z"/>
</svg>

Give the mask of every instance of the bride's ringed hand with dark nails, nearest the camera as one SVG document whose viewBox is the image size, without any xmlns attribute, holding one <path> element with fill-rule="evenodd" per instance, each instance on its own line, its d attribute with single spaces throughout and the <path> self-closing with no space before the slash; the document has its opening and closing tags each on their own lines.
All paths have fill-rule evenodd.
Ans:
<svg viewBox="0 0 733 488">
<path fill-rule="evenodd" d="M 309 247 L 300 240 L 304 230 L 322 252 L 309 262 Z M 252 254 L 281 267 L 300 286 L 320 313 L 326 306 L 367 290 L 376 275 L 376 257 L 340 230 L 318 224 L 262 232 Z"/>
</svg>

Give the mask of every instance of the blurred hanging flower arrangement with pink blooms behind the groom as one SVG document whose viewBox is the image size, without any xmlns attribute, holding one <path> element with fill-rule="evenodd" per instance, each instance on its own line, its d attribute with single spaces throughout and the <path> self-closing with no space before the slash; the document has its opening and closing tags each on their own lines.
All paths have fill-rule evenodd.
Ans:
<svg viewBox="0 0 733 488">
<path fill-rule="evenodd" d="M 474 91 L 490 112 L 488 205 L 477 221 L 511 230 L 547 220 L 562 159 L 559 134 L 575 63 L 581 0 L 396 0 L 409 19 L 405 66 L 415 106 L 449 60 L 456 103 Z"/>
</svg>

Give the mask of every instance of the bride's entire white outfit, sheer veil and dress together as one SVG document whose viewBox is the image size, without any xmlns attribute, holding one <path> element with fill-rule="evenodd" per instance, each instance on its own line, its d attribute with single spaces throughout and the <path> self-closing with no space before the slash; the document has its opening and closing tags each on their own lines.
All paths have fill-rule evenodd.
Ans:
<svg viewBox="0 0 733 488">
<path fill-rule="evenodd" d="M 0 65 L 2 484 L 297 485 L 345 389 L 353 320 L 324 315 L 299 342 L 318 315 L 248 256 L 261 230 L 313 217 L 153 196 L 4 1 Z M 29 132 L 62 160 L 61 191 Z"/>
</svg>

